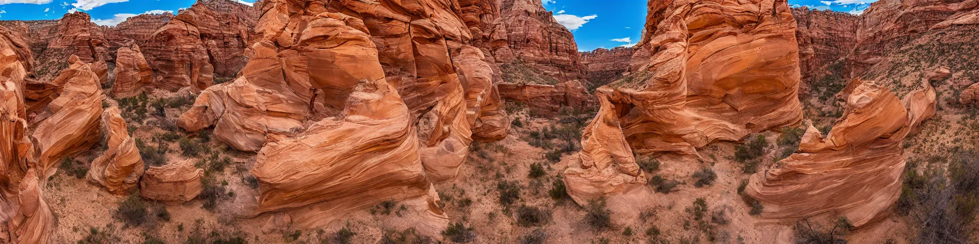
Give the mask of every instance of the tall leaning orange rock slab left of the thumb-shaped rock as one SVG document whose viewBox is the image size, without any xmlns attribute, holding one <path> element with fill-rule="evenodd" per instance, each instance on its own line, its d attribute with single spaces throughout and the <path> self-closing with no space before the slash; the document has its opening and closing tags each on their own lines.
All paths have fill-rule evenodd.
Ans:
<svg viewBox="0 0 979 244">
<path fill-rule="evenodd" d="M 90 63 L 72 56 L 70 67 L 53 83 L 57 99 L 48 103 L 51 116 L 37 125 L 33 137 L 39 151 L 37 169 L 47 178 L 58 171 L 62 157 L 87 150 L 99 141 L 99 121 L 105 96 Z"/>
</svg>

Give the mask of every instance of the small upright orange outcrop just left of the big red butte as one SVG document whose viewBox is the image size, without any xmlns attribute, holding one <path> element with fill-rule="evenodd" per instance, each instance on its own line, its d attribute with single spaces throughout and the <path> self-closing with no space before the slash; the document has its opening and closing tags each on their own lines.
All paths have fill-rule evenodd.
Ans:
<svg viewBox="0 0 979 244">
<path fill-rule="evenodd" d="M 116 55 L 116 83 L 113 84 L 113 97 L 127 98 L 139 95 L 143 88 L 153 82 L 153 69 L 146 62 L 139 46 L 120 48 Z"/>
</svg>

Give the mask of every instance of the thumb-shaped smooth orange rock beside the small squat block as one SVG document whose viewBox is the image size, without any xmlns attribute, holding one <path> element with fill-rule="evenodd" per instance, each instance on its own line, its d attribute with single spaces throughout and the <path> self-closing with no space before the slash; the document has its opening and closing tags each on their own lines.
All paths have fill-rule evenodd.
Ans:
<svg viewBox="0 0 979 244">
<path fill-rule="evenodd" d="M 102 113 L 102 132 L 109 149 L 95 158 L 88 170 L 88 181 L 99 183 L 116 194 L 128 194 L 143 176 L 143 158 L 136 148 L 135 139 L 129 137 L 125 120 L 117 106 Z"/>
</svg>

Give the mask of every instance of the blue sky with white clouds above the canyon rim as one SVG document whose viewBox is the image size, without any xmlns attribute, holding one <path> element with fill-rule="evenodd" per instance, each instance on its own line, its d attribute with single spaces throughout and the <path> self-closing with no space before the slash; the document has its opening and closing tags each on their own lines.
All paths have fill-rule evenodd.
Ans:
<svg viewBox="0 0 979 244">
<path fill-rule="evenodd" d="M 237 0 L 247 4 L 255 0 Z M 634 45 L 646 22 L 647 0 L 541 0 L 554 19 L 571 29 L 578 49 Z M 659 1 L 659 0 L 653 0 Z M 789 4 L 861 14 L 877 0 L 788 0 Z M 196 0 L 0 0 L 0 20 L 57 20 L 83 11 L 102 25 L 116 25 L 143 13 L 176 13 Z"/>
</svg>

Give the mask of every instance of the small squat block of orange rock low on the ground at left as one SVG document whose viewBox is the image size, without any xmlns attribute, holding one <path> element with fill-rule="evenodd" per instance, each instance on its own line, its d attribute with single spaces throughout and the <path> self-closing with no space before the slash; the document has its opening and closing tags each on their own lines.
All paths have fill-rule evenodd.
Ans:
<svg viewBox="0 0 979 244">
<path fill-rule="evenodd" d="M 151 166 L 139 180 L 139 195 L 178 205 L 201 194 L 202 177 L 204 170 L 194 167 L 191 161 Z"/>
</svg>

